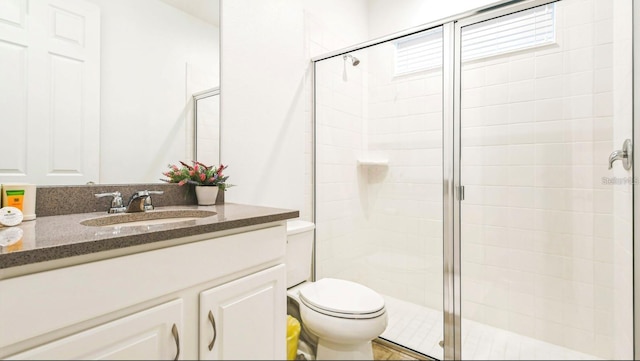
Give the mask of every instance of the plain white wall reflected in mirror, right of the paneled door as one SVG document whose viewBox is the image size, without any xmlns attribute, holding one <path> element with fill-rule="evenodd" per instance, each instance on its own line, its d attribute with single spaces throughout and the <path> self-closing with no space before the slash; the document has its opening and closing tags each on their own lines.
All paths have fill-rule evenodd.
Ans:
<svg viewBox="0 0 640 361">
<path fill-rule="evenodd" d="M 158 182 L 191 160 L 187 64 L 218 85 L 218 28 L 158 0 L 89 1 L 102 18 L 99 181 Z"/>
</svg>

